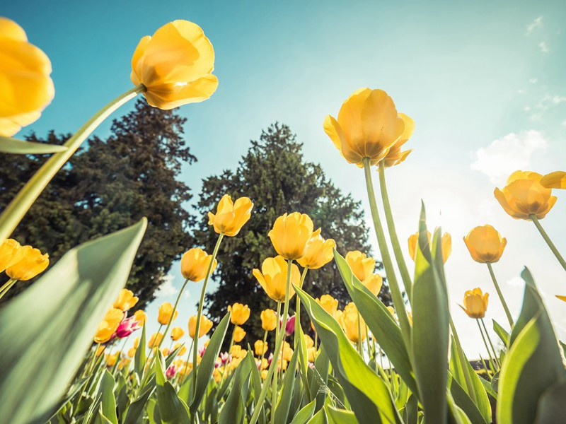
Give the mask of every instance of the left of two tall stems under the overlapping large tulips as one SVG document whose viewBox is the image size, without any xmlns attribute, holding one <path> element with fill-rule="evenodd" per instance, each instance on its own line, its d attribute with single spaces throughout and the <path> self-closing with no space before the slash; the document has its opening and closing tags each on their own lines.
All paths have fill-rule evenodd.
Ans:
<svg viewBox="0 0 566 424">
<path fill-rule="evenodd" d="M 399 284 L 397 283 L 397 277 L 395 276 L 395 269 L 393 269 L 393 262 L 391 261 L 391 256 L 389 256 L 389 249 L 387 247 L 387 242 L 385 240 L 385 234 L 383 233 L 383 227 L 381 226 L 379 211 L 377 210 L 374 183 L 371 181 L 371 166 L 369 164 L 369 158 L 364 158 L 363 163 L 364 163 L 364 174 L 366 177 L 367 196 L 369 198 L 369 208 L 371 211 L 371 218 L 373 218 L 374 220 L 374 229 L 376 232 L 377 242 L 379 245 L 379 252 L 381 252 L 381 259 L 383 261 L 383 266 L 385 267 L 389 288 L 391 289 L 391 295 L 393 297 L 393 305 L 395 306 L 395 310 L 397 310 L 397 316 L 399 317 L 399 324 L 401 326 L 401 330 L 403 331 L 405 346 L 407 347 L 408 351 L 410 351 L 411 329 L 410 329 L 409 319 L 407 317 L 407 311 L 405 310 L 403 293 L 401 293 Z"/>
</svg>

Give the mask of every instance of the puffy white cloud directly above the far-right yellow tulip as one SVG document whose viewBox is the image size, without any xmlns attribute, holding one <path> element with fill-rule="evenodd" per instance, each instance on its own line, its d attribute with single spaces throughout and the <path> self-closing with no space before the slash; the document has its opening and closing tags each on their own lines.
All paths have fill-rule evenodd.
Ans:
<svg viewBox="0 0 566 424">
<path fill-rule="evenodd" d="M 487 147 L 478 148 L 472 170 L 483 172 L 494 184 L 501 184 L 516 170 L 529 167 L 532 156 L 545 151 L 548 141 L 534 129 L 519 134 L 510 133 L 494 140 Z"/>
</svg>

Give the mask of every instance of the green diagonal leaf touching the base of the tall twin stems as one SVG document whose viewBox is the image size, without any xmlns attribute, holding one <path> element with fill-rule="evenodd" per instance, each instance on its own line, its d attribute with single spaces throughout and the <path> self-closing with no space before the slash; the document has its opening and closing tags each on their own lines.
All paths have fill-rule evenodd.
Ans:
<svg viewBox="0 0 566 424">
<path fill-rule="evenodd" d="M 334 259 L 342 281 L 346 285 L 350 297 L 356 304 L 359 313 L 374 334 L 379 346 L 386 353 L 395 370 L 405 381 L 411 391 L 417 394 L 417 383 L 410 365 L 410 358 L 400 326 L 395 322 L 391 313 L 383 302 L 376 298 L 364 285 L 354 276 L 346 259 L 334 250 Z"/>
</svg>

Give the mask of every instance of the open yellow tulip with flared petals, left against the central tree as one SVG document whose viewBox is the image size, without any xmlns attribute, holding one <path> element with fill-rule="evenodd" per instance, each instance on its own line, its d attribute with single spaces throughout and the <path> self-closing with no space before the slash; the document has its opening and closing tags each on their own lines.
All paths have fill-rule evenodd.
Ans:
<svg viewBox="0 0 566 424">
<path fill-rule="evenodd" d="M 229 237 L 240 232 L 252 214 L 253 203 L 249 197 L 241 197 L 232 202 L 228 194 L 224 194 L 216 207 L 216 215 L 208 213 L 208 225 L 214 225 L 214 231 Z"/>
</svg>

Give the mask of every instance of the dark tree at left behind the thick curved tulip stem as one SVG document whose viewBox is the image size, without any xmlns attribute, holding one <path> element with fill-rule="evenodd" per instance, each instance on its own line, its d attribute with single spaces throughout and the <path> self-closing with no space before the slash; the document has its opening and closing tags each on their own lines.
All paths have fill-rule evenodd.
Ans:
<svg viewBox="0 0 566 424">
<path fill-rule="evenodd" d="M 52 264 L 81 242 L 149 220 L 128 287 L 138 307 L 154 298 L 171 263 L 192 245 L 189 213 L 183 203 L 190 189 L 176 179 L 181 167 L 196 160 L 183 140 L 185 119 L 139 100 L 129 114 L 115 119 L 111 135 L 94 137 L 57 173 L 13 234 L 22 244 L 48 252 Z M 61 144 L 69 135 L 54 131 L 30 141 Z M 0 170 L 0 208 L 45 161 L 42 155 L 11 155 Z M 8 295 L 23 290 L 18 283 Z M 8 296 L 6 296 L 8 298 Z"/>
</svg>

